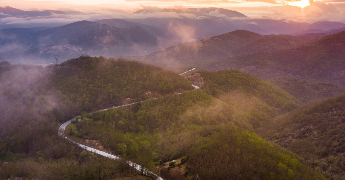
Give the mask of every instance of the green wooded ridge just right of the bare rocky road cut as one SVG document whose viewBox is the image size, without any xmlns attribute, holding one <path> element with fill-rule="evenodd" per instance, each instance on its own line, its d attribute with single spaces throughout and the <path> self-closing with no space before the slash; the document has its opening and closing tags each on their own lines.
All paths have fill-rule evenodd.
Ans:
<svg viewBox="0 0 345 180">
<path fill-rule="evenodd" d="M 250 74 L 237 70 L 201 71 L 199 73 L 204 79 L 206 92 L 212 96 L 217 97 L 225 92 L 238 90 L 258 97 L 269 106 L 285 112 L 298 107 L 296 99 L 289 93 Z"/>
</svg>

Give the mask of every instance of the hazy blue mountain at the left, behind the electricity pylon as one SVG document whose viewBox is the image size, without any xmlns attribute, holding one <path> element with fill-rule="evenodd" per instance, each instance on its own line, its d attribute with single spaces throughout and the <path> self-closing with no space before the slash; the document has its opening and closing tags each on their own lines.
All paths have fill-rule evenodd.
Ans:
<svg viewBox="0 0 345 180">
<path fill-rule="evenodd" d="M 0 39 L 2 47 L 11 48 L 2 52 L 4 57 L 51 58 L 61 54 L 64 58 L 78 57 L 82 54 L 92 56 L 123 56 L 145 52 L 157 46 L 156 37 L 152 37 L 138 26 L 116 28 L 107 24 L 90 21 L 78 21 L 65 26 L 35 31 L 26 28 L 4 29 Z"/>
</svg>

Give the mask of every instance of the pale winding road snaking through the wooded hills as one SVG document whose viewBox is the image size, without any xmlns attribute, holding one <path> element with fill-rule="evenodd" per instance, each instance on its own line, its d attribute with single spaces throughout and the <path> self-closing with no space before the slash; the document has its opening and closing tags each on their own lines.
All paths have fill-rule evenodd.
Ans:
<svg viewBox="0 0 345 180">
<path fill-rule="evenodd" d="M 193 68 L 193 69 L 191 69 L 191 70 L 189 70 L 189 71 L 193 71 L 194 69 L 195 69 L 195 68 Z M 186 72 L 189 72 L 189 71 L 186 71 Z M 184 72 L 184 73 L 186 73 L 186 72 Z M 182 74 L 184 74 L 184 73 L 181 73 L 180 75 L 182 75 Z M 194 86 L 194 85 L 193 85 L 193 87 L 194 87 L 195 89 L 199 89 L 199 87 L 197 87 L 197 86 Z M 195 90 L 195 89 L 194 89 L 194 90 Z M 179 93 L 179 94 L 181 94 L 181 93 Z M 140 101 L 140 102 L 143 102 L 143 101 Z M 134 103 L 130 103 L 130 104 L 125 104 L 125 105 L 122 105 L 122 106 L 112 107 L 112 108 L 108 108 L 108 109 L 102 109 L 102 110 L 99 110 L 99 111 L 106 111 L 106 110 L 109 110 L 109 109 L 120 108 L 120 107 L 129 106 L 129 105 L 136 104 L 136 103 L 139 103 L 139 102 L 134 102 Z M 99 111 L 96 111 L 96 112 L 99 112 Z M 96 113 L 96 112 L 92 112 L 92 113 Z M 74 121 L 74 120 L 76 120 L 76 118 L 73 118 L 73 119 L 71 119 L 71 120 L 69 120 L 69 121 L 63 123 L 63 124 L 60 126 L 59 132 L 58 132 L 60 136 L 63 136 L 64 138 L 66 138 L 66 139 L 68 139 L 68 140 L 70 140 L 70 139 L 67 138 L 67 137 L 65 136 L 65 129 L 66 129 L 67 125 L 68 125 L 69 123 L 71 123 L 72 120 Z M 70 141 L 72 141 L 72 140 L 70 140 Z M 102 155 L 102 156 L 104 156 L 104 157 L 111 158 L 111 159 L 114 159 L 114 160 L 120 160 L 120 159 L 121 159 L 121 157 L 115 156 L 114 154 L 109 154 L 109 153 L 104 152 L 104 151 L 100 151 L 100 150 L 97 150 L 97 149 L 92 149 L 91 147 L 85 146 L 85 145 L 83 145 L 83 144 L 79 144 L 79 143 L 77 143 L 77 142 L 75 142 L 75 141 L 72 141 L 72 142 L 75 143 L 75 144 L 77 144 L 78 146 L 80 146 L 80 147 L 83 148 L 83 149 L 86 149 L 86 150 L 91 151 L 91 152 L 95 152 L 95 153 L 100 154 L 100 155 Z M 142 173 L 145 174 L 146 176 L 149 175 L 149 174 L 154 174 L 153 172 L 149 171 L 149 170 L 146 169 L 145 167 L 141 167 L 139 164 L 136 164 L 136 163 L 134 163 L 134 162 L 132 162 L 132 161 L 127 161 L 127 162 L 128 162 L 128 164 L 129 164 L 129 166 L 135 168 L 135 169 L 138 170 L 138 171 L 142 171 Z M 155 174 L 155 175 L 156 175 L 156 174 Z M 157 175 L 156 175 L 156 176 L 157 176 Z M 161 177 L 157 176 L 157 180 L 164 180 L 164 179 L 162 179 Z"/>
</svg>

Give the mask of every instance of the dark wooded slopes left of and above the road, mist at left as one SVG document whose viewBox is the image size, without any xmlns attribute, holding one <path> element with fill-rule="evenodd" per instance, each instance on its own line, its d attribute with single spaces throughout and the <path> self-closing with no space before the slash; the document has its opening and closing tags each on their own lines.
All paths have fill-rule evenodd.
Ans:
<svg viewBox="0 0 345 180">
<path fill-rule="evenodd" d="M 0 78 L 0 179 L 31 173 L 35 179 L 127 176 L 128 167 L 121 169 L 59 138 L 59 123 L 83 110 L 144 100 L 147 91 L 158 97 L 193 89 L 177 73 L 103 57 L 81 56 L 45 68 L 1 62 Z"/>
</svg>

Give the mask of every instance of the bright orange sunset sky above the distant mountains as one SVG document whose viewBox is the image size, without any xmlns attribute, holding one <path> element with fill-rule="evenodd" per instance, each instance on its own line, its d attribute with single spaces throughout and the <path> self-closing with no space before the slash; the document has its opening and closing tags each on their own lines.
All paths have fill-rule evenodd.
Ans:
<svg viewBox="0 0 345 180">
<path fill-rule="evenodd" d="M 81 11 L 102 14 L 93 19 L 121 18 L 148 7 L 219 7 L 236 10 L 252 18 L 287 19 L 313 23 L 345 23 L 345 0 L 0 0 L 0 6 L 22 10 Z M 90 19 L 90 17 L 88 17 Z M 92 18 L 91 18 L 92 19 Z"/>
</svg>

